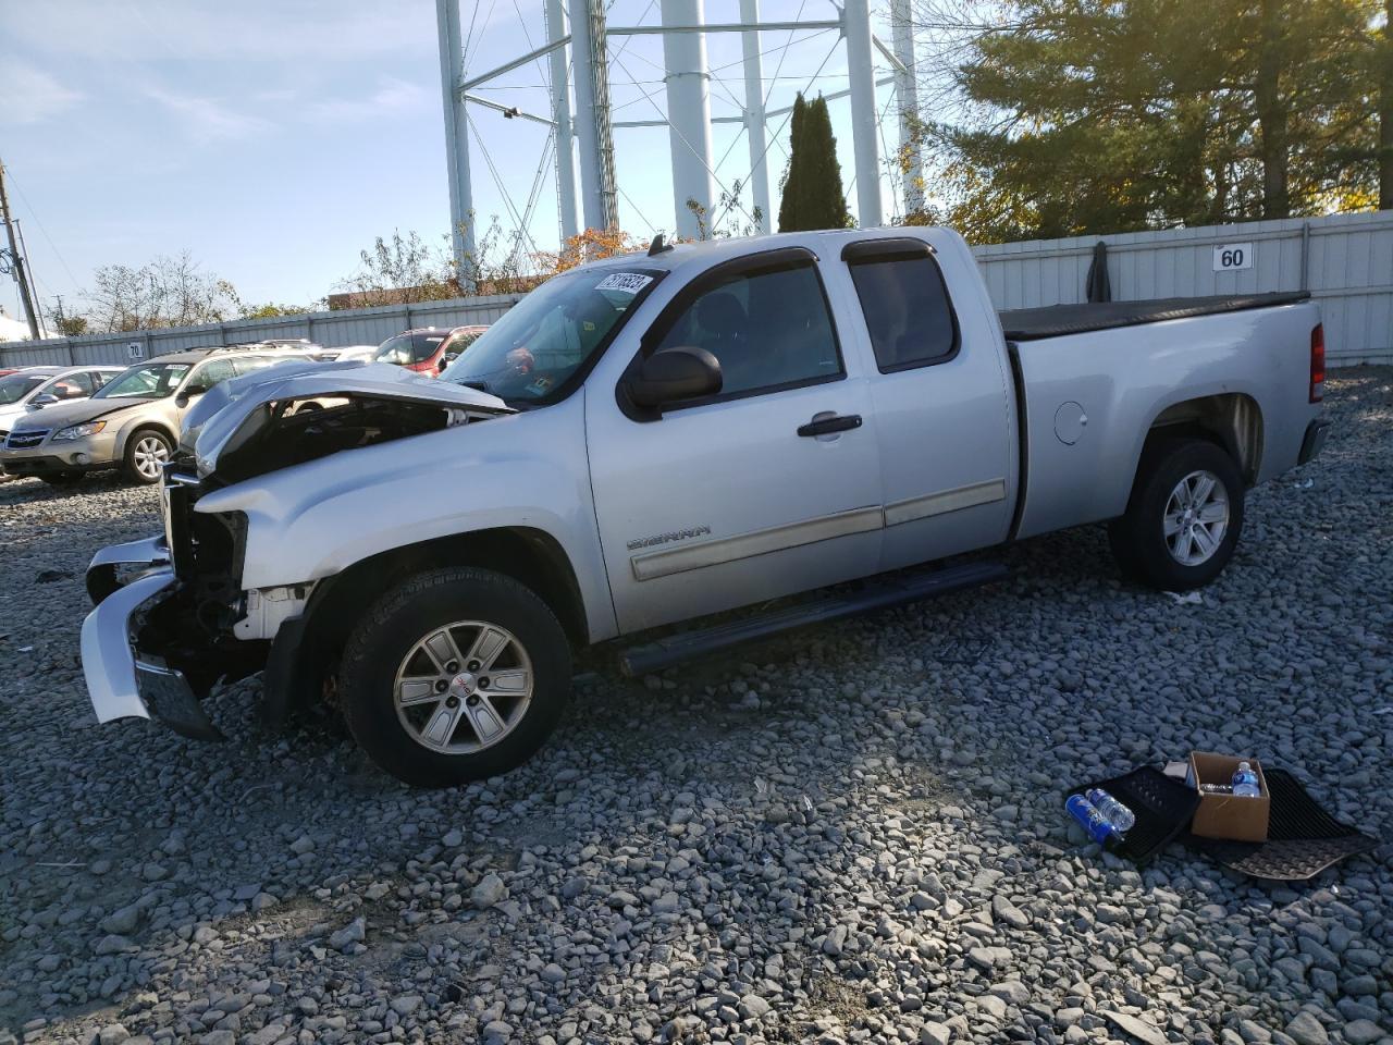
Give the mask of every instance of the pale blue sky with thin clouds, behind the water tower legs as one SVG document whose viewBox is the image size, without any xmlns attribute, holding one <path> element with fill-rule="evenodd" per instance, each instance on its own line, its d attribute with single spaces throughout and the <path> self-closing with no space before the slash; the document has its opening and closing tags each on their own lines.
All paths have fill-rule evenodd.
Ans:
<svg viewBox="0 0 1393 1045">
<path fill-rule="evenodd" d="M 545 36 L 540 0 L 461 6 L 465 26 L 474 26 L 471 72 Z M 800 7 L 805 18 L 834 15 L 829 0 L 766 0 L 762 15 L 794 18 Z M 706 18 L 737 21 L 737 0 L 708 0 Z M 616 0 L 610 10 L 614 25 L 656 21 L 656 0 Z M 244 300 L 306 304 L 348 276 L 375 235 L 400 229 L 439 241 L 449 227 L 432 0 L 0 0 L 0 157 L 45 300 L 79 300 L 96 266 L 141 265 L 188 249 Z M 846 86 L 836 33 L 800 36 L 781 65 L 775 49 L 787 33 L 762 42 L 772 52 L 763 59 L 770 109 L 788 104 L 809 82 L 814 93 Z M 737 111 L 744 95 L 738 60 L 737 35 L 710 38 L 713 116 Z M 620 63 L 612 72 L 614 118 L 657 118 L 664 104 L 660 38 L 631 38 Z M 543 82 L 538 65 L 525 65 L 481 93 L 546 113 Z M 882 104 L 889 99 L 882 88 Z M 846 102 L 833 102 L 832 113 L 850 184 Z M 546 128 L 478 107 L 471 116 L 479 135 L 472 149 L 476 215 L 497 215 L 511 227 L 483 150 L 522 210 Z M 772 121 L 770 131 L 780 123 Z M 883 134 L 893 146 L 893 117 Z M 717 178 L 727 185 L 749 166 L 737 135 L 733 125 L 713 131 L 715 156 L 726 156 Z M 670 230 L 667 131 L 617 131 L 616 164 L 623 227 L 644 237 Z M 775 145 L 775 209 L 783 166 L 784 152 Z M 889 215 L 889 181 L 885 194 Z M 550 170 L 528 227 L 539 248 L 554 247 Z M 0 305 L 18 314 L 7 279 Z"/>
</svg>

